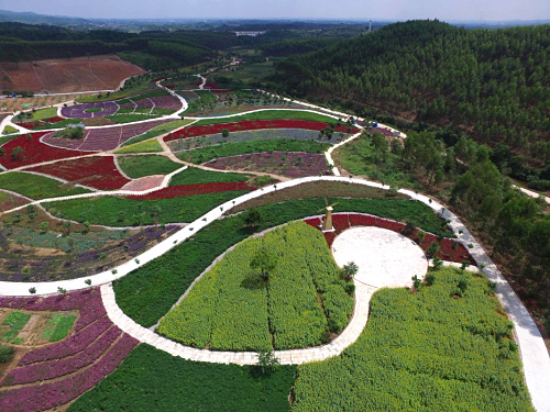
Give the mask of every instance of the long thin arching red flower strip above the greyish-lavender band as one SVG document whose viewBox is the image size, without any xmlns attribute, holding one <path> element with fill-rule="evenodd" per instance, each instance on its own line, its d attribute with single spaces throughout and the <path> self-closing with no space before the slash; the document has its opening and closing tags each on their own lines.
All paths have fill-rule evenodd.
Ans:
<svg viewBox="0 0 550 412">
<path fill-rule="evenodd" d="M 261 130 L 261 129 L 306 129 L 306 130 L 320 131 L 327 127 L 327 124 L 328 123 L 314 122 L 310 120 L 284 120 L 284 119 L 248 120 L 235 123 L 220 123 L 220 124 L 185 127 L 177 132 L 174 132 L 172 135 L 164 137 L 164 141 L 169 142 L 176 138 L 186 138 L 193 136 L 201 136 L 204 134 L 221 133 L 223 129 L 227 129 L 230 132 Z M 338 125 L 334 127 L 334 132 L 349 133 L 349 130 L 348 126 Z"/>
</svg>

